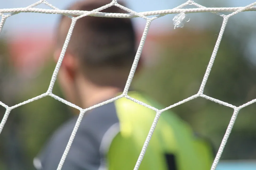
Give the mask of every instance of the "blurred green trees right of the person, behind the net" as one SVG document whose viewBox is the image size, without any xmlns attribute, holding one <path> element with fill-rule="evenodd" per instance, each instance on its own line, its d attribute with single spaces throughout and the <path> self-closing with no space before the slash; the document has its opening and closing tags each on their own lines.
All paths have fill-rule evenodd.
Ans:
<svg viewBox="0 0 256 170">
<path fill-rule="evenodd" d="M 245 30 L 243 28 L 243 32 Z M 197 31 L 183 28 L 162 35 L 158 39 L 158 46 L 161 46 L 158 50 L 160 62 L 143 70 L 135 87 L 157 99 L 165 107 L 197 94 L 217 37 L 218 32 L 214 29 Z M 245 33 L 236 37 L 224 34 L 204 94 L 236 106 L 255 98 L 256 69 L 244 55 L 243 44 L 246 37 Z M 241 110 L 243 114 L 247 113 L 247 117 L 242 119 L 239 115 L 228 143 L 236 143 L 237 138 L 232 136 L 243 134 L 241 131 L 256 132 L 253 109 L 255 107 L 251 106 L 250 109 Z M 233 113 L 231 108 L 221 107 L 202 98 L 174 107 L 172 111 L 189 122 L 194 130 L 209 137 L 216 149 Z M 249 147 L 249 139 L 250 143 L 256 142 L 250 135 L 240 137 L 241 140 L 248 138 L 243 142 L 239 141 L 240 148 Z M 241 153 L 243 149 L 234 153 L 234 147 L 227 147 L 223 159 L 256 159 L 255 146 L 250 147 L 254 149 L 247 149 L 246 154 Z"/>
</svg>

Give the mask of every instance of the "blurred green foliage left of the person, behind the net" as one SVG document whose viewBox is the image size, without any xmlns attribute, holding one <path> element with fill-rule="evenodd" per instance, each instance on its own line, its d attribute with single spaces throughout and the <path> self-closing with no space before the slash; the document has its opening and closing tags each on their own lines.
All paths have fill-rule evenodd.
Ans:
<svg viewBox="0 0 256 170">
<path fill-rule="evenodd" d="M 12 106 L 46 92 L 55 63 L 48 62 L 37 77 L 23 77 L 9 64 L 6 49 L 7 44 L 0 41 L 0 101 Z M 57 82 L 54 94 L 62 97 Z M 1 119 L 4 113 L 1 106 Z M 33 158 L 70 116 L 67 105 L 49 96 L 13 109 L 0 135 L 0 169 L 34 169 Z"/>
</svg>

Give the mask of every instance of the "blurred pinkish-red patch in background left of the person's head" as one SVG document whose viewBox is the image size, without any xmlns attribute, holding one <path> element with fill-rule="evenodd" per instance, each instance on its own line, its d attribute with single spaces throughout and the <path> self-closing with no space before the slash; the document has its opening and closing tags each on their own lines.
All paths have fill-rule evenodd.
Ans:
<svg viewBox="0 0 256 170">
<path fill-rule="evenodd" d="M 49 33 L 24 32 L 8 39 L 8 51 L 11 64 L 18 73 L 32 76 L 49 60 L 53 45 Z"/>
</svg>

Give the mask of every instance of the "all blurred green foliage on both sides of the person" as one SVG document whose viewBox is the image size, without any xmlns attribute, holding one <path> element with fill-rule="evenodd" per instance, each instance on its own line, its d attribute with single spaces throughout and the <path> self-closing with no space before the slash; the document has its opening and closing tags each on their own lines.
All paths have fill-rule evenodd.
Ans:
<svg viewBox="0 0 256 170">
<path fill-rule="evenodd" d="M 164 107 L 196 94 L 217 37 L 218 32 L 214 30 L 177 29 L 159 38 L 160 53 L 155 56 L 159 62 L 142 69 L 133 81 L 133 87 Z M 236 106 L 254 99 L 256 94 L 256 69 L 246 59 L 245 40 L 242 37 L 223 36 L 204 90 L 204 94 Z M 18 81 L 14 69 L 8 64 L 4 42 L 0 45 L 0 55 L 0 101 L 14 105 L 47 91 L 55 67 L 53 61 L 47 63 L 38 77 Z M 13 92 L 9 92 L 6 86 L 14 82 L 17 87 L 21 84 L 25 84 L 25 87 L 16 89 L 15 95 L 8 95 Z M 53 92 L 63 97 L 57 82 Z M 5 109 L 0 108 L 2 118 Z M 233 109 L 203 98 L 171 110 L 195 131 L 208 137 L 216 150 L 233 113 Z M 252 104 L 239 112 L 222 159 L 256 159 L 254 111 L 255 104 Z M 12 110 L 0 135 L 0 169 L 32 169 L 34 156 L 53 131 L 69 117 L 71 111 L 68 106 L 49 96 Z"/>
</svg>

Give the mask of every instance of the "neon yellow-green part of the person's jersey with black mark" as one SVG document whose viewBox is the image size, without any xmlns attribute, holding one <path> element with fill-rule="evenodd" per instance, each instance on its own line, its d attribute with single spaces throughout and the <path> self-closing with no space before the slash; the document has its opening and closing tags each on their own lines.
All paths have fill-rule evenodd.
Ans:
<svg viewBox="0 0 256 170">
<path fill-rule="evenodd" d="M 137 92 L 133 97 L 155 108 L 157 104 Z M 120 133 L 108 152 L 109 170 L 132 170 L 156 112 L 126 98 L 115 102 Z M 213 162 L 212 148 L 196 138 L 190 127 L 170 111 L 161 114 L 139 170 L 207 170 Z"/>
</svg>

